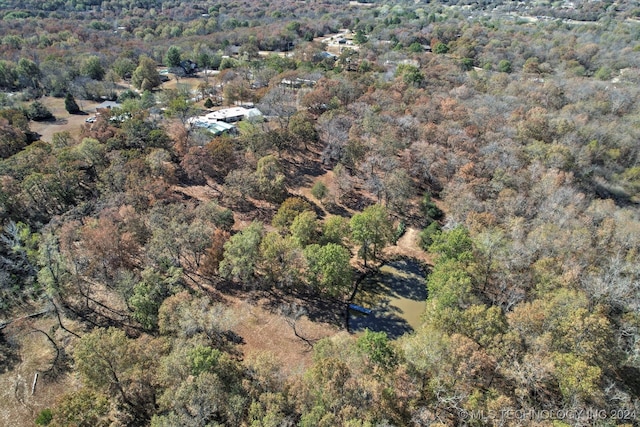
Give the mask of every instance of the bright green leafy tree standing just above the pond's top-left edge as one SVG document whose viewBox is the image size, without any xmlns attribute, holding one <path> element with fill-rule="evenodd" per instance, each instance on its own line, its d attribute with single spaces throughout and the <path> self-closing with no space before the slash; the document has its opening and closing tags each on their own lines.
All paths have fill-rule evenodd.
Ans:
<svg viewBox="0 0 640 427">
<path fill-rule="evenodd" d="M 393 241 L 393 223 L 382 205 L 372 205 L 355 214 L 349 223 L 351 238 L 360 244 L 365 267 L 369 259 L 376 260 L 381 249 Z"/>
</svg>

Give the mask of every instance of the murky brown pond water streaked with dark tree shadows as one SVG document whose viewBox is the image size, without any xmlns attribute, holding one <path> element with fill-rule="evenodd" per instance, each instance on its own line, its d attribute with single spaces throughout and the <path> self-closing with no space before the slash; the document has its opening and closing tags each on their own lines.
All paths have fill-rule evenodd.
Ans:
<svg viewBox="0 0 640 427">
<path fill-rule="evenodd" d="M 426 300 L 427 288 L 420 264 L 413 260 L 393 261 L 360 284 L 353 302 L 371 309 L 372 313 L 361 315 L 352 310 L 350 328 L 352 331 L 369 328 L 397 338 L 420 326 Z"/>
</svg>

